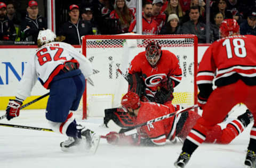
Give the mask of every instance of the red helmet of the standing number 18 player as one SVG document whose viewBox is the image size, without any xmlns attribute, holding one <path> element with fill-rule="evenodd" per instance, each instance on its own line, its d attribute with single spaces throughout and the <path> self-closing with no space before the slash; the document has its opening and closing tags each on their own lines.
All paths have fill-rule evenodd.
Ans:
<svg viewBox="0 0 256 168">
<path fill-rule="evenodd" d="M 235 19 L 225 19 L 220 24 L 220 37 L 239 35 L 239 25 Z"/>
</svg>

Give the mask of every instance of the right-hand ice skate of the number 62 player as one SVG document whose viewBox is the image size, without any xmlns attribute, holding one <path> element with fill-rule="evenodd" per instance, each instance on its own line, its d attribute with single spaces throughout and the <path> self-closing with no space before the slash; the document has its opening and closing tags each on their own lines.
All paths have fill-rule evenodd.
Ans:
<svg viewBox="0 0 256 168">
<path fill-rule="evenodd" d="M 100 136 L 89 129 L 82 130 L 81 136 L 86 141 L 86 150 L 88 150 L 88 153 L 95 154 L 99 146 Z"/>
</svg>

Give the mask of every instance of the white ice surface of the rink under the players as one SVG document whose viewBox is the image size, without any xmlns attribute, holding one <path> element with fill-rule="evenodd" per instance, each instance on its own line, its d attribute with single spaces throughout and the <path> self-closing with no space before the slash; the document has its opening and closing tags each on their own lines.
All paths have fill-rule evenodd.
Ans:
<svg viewBox="0 0 256 168">
<path fill-rule="evenodd" d="M 233 109 L 229 119 L 245 112 L 241 105 Z M 44 110 L 21 110 L 20 116 L 1 123 L 26 125 L 31 127 L 49 128 Z M 4 115 L 0 111 L 0 115 Z M 89 117 L 88 120 L 77 120 L 88 128 L 106 135 L 109 128 L 100 127 L 101 117 Z M 229 145 L 203 144 L 191 156 L 186 167 L 228 168 L 244 167 L 247 144 L 250 138 L 250 128 L 239 135 Z M 49 131 L 37 131 L 0 126 L 0 167 L 30 168 L 30 167 L 174 167 L 173 163 L 181 152 L 182 144 L 173 145 L 168 142 L 162 147 L 113 146 L 101 139 L 95 155 L 83 152 L 67 153 L 60 150 L 59 144 L 66 140 L 65 136 Z"/>
</svg>

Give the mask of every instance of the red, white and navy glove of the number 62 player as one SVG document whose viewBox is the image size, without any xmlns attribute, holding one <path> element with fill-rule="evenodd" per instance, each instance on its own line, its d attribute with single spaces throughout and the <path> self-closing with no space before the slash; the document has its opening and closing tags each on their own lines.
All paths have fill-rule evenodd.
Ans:
<svg viewBox="0 0 256 168">
<path fill-rule="evenodd" d="M 6 107 L 6 114 L 7 114 L 6 119 L 11 120 L 12 118 L 19 116 L 21 105 L 22 105 L 22 102 L 20 100 L 10 99 Z"/>
</svg>

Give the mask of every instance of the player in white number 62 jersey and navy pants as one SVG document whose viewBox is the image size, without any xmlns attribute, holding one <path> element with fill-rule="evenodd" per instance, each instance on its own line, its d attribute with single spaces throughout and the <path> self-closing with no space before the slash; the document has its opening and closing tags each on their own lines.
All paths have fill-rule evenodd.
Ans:
<svg viewBox="0 0 256 168">
<path fill-rule="evenodd" d="M 77 124 L 71 112 L 77 110 L 85 78 L 92 74 L 91 63 L 73 46 L 55 40 L 56 35 L 51 30 L 39 31 L 38 49 L 26 65 L 15 99 L 10 99 L 7 105 L 7 120 L 19 116 L 23 100 L 30 96 L 39 79 L 46 89 L 50 89 L 46 119 L 54 132 L 68 136 L 68 140 L 61 142 L 61 149 L 82 148 L 95 153 L 100 137 Z"/>
</svg>

